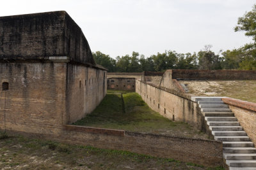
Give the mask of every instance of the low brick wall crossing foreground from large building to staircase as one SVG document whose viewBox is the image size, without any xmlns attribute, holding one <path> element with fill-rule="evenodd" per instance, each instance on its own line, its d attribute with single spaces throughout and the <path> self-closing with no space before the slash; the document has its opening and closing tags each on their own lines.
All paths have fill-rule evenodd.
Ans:
<svg viewBox="0 0 256 170">
<path fill-rule="evenodd" d="M 61 132 L 60 136 L 44 137 L 73 145 L 125 150 L 204 166 L 222 166 L 223 164 L 222 143 L 207 139 L 180 138 L 74 125 L 65 125 L 65 131 Z"/>
</svg>

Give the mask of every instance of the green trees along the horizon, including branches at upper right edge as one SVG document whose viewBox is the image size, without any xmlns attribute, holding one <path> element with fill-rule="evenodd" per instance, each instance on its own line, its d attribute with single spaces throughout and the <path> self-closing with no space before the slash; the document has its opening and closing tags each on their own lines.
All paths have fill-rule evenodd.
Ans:
<svg viewBox="0 0 256 170">
<path fill-rule="evenodd" d="M 234 31 L 245 31 L 245 36 L 252 37 L 253 42 L 240 48 L 214 53 L 211 45 L 194 53 L 177 53 L 166 50 L 149 57 L 138 52 L 132 55 L 117 56 L 113 59 L 102 52 L 93 52 L 97 64 L 109 72 L 165 71 L 166 69 L 241 69 L 256 70 L 256 4 L 252 11 L 239 17 Z"/>
</svg>

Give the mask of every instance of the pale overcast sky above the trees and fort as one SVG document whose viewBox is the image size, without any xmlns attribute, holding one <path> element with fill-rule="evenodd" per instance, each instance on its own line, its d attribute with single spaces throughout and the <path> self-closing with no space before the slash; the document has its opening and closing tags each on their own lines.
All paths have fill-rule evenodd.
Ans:
<svg viewBox="0 0 256 170">
<path fill-rule="evenodd" d="M 93 52 L 115 58 L 132 51 L 149 57 L 164 50 L 232 50 L 252 41 L 234 32 L 237 18 L 255 0 L 0 1 L 0 16 L 65 10 L 81 27 Z"/>
</svg>

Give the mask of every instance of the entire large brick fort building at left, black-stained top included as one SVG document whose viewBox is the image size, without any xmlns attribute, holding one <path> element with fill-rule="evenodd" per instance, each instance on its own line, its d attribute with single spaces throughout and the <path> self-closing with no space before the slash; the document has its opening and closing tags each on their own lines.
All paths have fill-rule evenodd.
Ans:
<svg viewBox="0 0 256 170">
<path fill-rule="evenodd" d="M 58 134 L 106 95 L 106 69 L 65 11 L 0 17 L 0 61 L 0 129 Z"/>
</svg>

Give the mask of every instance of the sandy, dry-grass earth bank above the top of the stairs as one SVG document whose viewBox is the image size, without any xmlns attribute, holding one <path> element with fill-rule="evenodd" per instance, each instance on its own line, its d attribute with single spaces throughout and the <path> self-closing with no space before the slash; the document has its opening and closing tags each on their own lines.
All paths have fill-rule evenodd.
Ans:
<svg viewBox="0 0 256 170">
<path fill-rule="evenodd" d="M 179 83 L 186 85 L 192 96 L 226 96 L 256 103 L 255 80 L 179 80 Z"/>
</svg>

